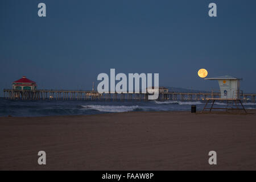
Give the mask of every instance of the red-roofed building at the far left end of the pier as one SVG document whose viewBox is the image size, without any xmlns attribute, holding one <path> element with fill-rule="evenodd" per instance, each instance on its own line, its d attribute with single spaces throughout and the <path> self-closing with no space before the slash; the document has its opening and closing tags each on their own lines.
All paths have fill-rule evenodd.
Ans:
<svg viewBox="0 0 256 182">
<path fill-rule="evenodd" d="M 13 82 L 13 90 L 36 90 L 36 82 L 23 76 Z"/>
</svg>

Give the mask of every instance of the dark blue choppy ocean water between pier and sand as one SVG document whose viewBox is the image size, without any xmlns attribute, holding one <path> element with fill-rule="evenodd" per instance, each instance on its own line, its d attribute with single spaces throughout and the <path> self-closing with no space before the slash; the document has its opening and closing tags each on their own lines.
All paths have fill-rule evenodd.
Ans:
<svg viewBox="0 0 256 182">
<path fill-rule="evenodd" d="M 191 105 L 202 110 L 204 101 L 13 101 L 0 98 L 0 117 L 36 117 L 49 115 L 86 115 L 121 113 L 126 111 L 189 111 Z M 224 102 L 215 102 L 225 106 Z M 246 109 L 255 109 L 255 103 L 243 104 Z M 209 105 L 208 105 L 209 107 Z"/>
</svg>

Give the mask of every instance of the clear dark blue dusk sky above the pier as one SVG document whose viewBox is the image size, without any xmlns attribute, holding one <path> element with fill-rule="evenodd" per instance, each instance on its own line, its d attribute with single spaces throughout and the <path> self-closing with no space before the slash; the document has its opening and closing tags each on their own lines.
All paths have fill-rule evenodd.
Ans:
<svg viewBox="0 0 256 182">
<path fill-rule="evenodd" d="M 46 3 L 46 17 L 38 3 Z M 217 5 L 217 17 L 208 5 Z M 0 1 L 0 92 L 23 75 L 38 89 L 92 89 L 99 73 L 159 73 L 159 84 L 256 92 L 256 1 Z M 97 86 L 97 83 L 96 83 Z"/>
</svg>

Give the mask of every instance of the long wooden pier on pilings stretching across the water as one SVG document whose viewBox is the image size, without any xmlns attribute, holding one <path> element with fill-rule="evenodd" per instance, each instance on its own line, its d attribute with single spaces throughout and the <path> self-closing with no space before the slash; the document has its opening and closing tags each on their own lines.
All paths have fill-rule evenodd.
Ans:
<svg viewBox="0 0 256 182">
<path fill-rule="evenodd" d="M 13 90 L 4 89 L 3 96 L 9 100 L 148 100 L 147 93 L 104 93 L 82 90 Z M 256 94 L 243 94 L 243 101 L 255 102 Z M 207 98 L 220 98 L 220 93 L 159 93 L 158 100 L 207 100 Z"/>
</svg>

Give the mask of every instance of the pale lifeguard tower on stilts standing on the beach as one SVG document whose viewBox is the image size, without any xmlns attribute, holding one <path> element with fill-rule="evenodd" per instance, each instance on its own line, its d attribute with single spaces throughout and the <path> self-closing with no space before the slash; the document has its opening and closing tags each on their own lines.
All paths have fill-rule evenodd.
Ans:
<svg viewBox="0 0 256 182">
<path fill-rule="evenodd" d="M 238 104 L 241 104 L 242 110 L 245 111 L 245 107 L 243 107 L 242 101 L 240 99 L 240 81 L 242 78 L 236 78 L 232 76 L 218 76 L 213 78 L 205 78 L 205 80 L 218 80 L 218 84 L 220 85 L 220 97 L 219 98 L 207 98 L 207 102 L 204 106 L 203 111 L 209 110 L 212 111 L 212 109 L 217 110 L 241 110 L 238 107 Z M 212 105 L 210 108 L 207 108 L 208 102 L 212 101 Z M 226 107 L 225 108 L 213 108 L 215 101 L 226 101 Z M 233 105 L 236 105 L 234 108 Z M 229 108 L 228 106 L 231 106 Z M 203 112 L 202 111 L 202 112 Z"/>
</svg>

